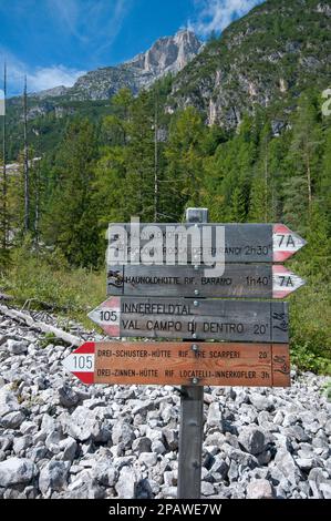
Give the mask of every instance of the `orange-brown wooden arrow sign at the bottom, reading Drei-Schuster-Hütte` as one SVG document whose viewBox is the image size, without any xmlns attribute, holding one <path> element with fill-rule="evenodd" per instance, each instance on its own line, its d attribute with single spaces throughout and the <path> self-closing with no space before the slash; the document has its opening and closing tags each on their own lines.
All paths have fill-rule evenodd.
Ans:
<svg viewBox="0 0 331 521">
<path fill-rule="evenodd" d="M 64 367 L 84 384 L 289 387 L 281 344 L 85 344 Z"/>
</svg>

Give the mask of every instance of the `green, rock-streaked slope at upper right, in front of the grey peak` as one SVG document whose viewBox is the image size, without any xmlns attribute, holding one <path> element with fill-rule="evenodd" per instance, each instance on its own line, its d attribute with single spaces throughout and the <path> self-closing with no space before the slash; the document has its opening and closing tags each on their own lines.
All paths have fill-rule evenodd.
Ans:
<svg viewBox="0 0 331 521">
<path fill-rule="evenodd" d="M 194 105 L 209 124 L 235 127 L 262 106 L 277 130 L 302 90 L 330 86 L 330 34 L 329 0 L 269 0 L 179 72 L 168 110 Z"/>
</svg>

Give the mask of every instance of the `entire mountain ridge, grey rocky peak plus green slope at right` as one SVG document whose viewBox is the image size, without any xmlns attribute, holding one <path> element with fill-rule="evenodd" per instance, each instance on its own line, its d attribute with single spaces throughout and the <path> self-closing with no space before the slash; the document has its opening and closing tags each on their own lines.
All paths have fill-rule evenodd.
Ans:
<svg viewBox="0 0 331 521">
<path fill-rule="evenodd" d="M 330 88 L 330 0 L 267 0 L 232 22 L 220 38 L 205 44 L 197 41 L 192 54 L 185 45 L 196 37 L 188 30 L 179 31 L 159 39 L 146 53 L 121 68 L 91 71 L 77 80 L 70 94 L 60 86 L 31 96 L 30 143 L 39 155 L 52 150 L 61 140 L 65 120 L 77 115 L 101 121 L 111 112 L 112 95 L 120 88 L 127 86 L 137 94 L 141 89 L 153 89 L 153 82 L 168 73 L 167 94 L 161 108 L 166 116 L 194 106 L 206 124 L 235 131 L 245 114 L 261 110 L 270 120 L 273 134 L 279 135 L 288 127 L 302 92 L 313 89 L 322 93 Z M 184 68 L 176 38 L 185 51 Z M 175 54 L 173 44 L 177 44 Z M 158 45 L 168 45 L 163 61 L 157 54 Z M 178 73 L 176 67 L 182 68 Z M 9 100 L 8 114 L 10 157 L 15 161 L 22 147 L 21 99 Z"/>
</svg>

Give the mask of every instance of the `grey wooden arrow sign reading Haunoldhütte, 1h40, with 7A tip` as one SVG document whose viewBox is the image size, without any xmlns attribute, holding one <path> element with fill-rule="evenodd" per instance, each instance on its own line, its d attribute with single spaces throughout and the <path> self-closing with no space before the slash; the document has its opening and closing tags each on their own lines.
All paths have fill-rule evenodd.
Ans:
<svg viewBox="0 0 331 521">
<path fill-rule="evenodd" d="M 215 269 L 214 269 L 215 270 Z M 219 276 L 204 266 L 112 266 L 107 293 L 114 296 L 286 298 L 304 280 L 283 266 L 228 264 Z"/>
</svg>

